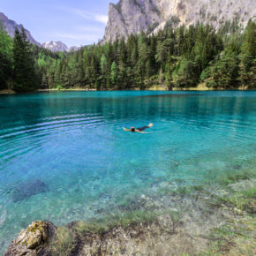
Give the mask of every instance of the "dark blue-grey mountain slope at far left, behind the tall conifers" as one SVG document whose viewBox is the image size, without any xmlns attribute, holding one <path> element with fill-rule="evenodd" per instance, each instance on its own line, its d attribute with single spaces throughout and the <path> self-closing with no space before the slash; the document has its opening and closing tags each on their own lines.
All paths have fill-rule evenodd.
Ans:
<svg viewBox="0 0 256 256">
<path fill-rule="evenodd" d="M 22 25 L 21 24 L 18 25 L 15 21 L 8 19 L 3 12 L 0 12 L 0 21 L 2 21 L 2 23 L 4 24 L 4 29 L 11 37 L 14 37 L 16 27 L 18 27 L 19 31 L 21 31 Z M 38 46 L 41 46 L 41 43 L 39 43 L 38 41 L 35 41 L 33 36 L 30 34 L 28 30 L 25 29 L 25 33 L 28 41 Z"/>
</svg>

